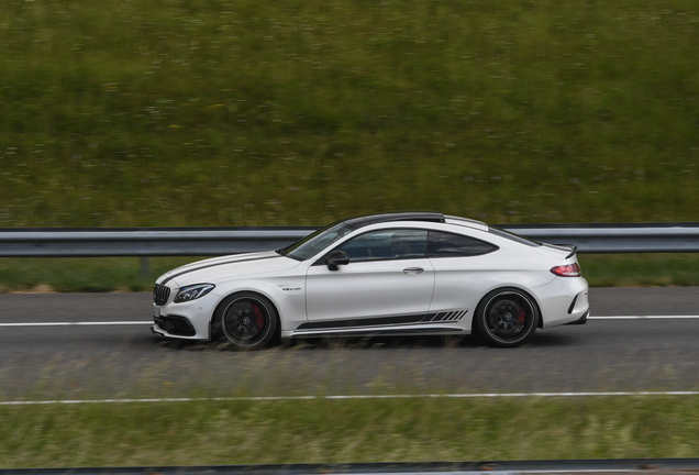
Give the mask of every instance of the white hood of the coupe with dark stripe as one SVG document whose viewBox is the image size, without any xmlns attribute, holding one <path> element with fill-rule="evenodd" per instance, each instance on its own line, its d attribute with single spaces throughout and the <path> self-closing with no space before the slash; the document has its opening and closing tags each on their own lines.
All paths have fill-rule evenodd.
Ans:
<svg viewBox="0 0 699 475">
<path fill-rule="evenodd" d="M 169 281 L 179 287 L 200 283 L 215 283 L 253 274 L 266 274 L 286 270 L 299 265 L 298 261 L 266 251 L 249 254 L 236 254 L 197 261 L 163 274 L 156 280 L 164 285 Z"/>
</svg>

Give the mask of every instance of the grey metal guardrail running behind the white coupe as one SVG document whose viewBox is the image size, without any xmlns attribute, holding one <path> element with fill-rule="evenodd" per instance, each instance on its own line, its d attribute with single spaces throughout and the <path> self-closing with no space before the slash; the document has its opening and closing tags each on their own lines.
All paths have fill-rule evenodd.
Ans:
<svg viewBox="0 0 699 475">
<path fill-rule="evenodd" d="M 581 254 L 696 253 L 699 223 L 504 225 Z M 0 257 L 209 256 L 281 248 L 315 228 L 3 229 Z"/>
</svg>

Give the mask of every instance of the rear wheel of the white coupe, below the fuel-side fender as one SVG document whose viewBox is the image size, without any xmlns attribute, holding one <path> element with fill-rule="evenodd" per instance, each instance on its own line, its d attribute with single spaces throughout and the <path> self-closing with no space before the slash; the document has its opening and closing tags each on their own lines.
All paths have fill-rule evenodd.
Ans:
<svg viewBox="0 0 699 475">
<path fill-rule="evenodd" d="M 529 341 L 539 324 L 539 308 L 519 289 L 488 294 L 476 309 L 476 327 L 491 346 L 514 347 Z"/>
</svg>

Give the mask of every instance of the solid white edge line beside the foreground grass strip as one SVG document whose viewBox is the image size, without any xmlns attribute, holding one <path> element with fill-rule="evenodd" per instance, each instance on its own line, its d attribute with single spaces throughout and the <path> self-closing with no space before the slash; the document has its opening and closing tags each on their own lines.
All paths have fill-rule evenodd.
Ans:
<svg viewBox="0 0 699 475">
<path fill-rule="evenodd" d="M 602 393 L 477 393 L 445 395 L 355 395 L 355 396 L 259 396 L 219 398 L 144 398 L 144 399 L 53 399 L 0 401 L 0 406 L 125 404 L 125 402 L 211 402 L 211 401 L 297 401 L 344 399 L 428 399 L 428 398 L 521 398 L 521 397 L 612 397 L 612 396 L 699 396 L 699 391 L 602 391 Z"/>
</svg>

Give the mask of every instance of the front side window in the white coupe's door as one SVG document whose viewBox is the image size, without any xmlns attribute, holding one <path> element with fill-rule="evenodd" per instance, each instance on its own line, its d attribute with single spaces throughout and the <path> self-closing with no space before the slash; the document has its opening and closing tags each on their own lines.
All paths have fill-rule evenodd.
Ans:
<svg viewBox="0 0 699 475">
<path fill-rule="evenodd" d="M 392 229 L 362 234 L 337 247 L 350 262 L 424 257 L 426 230 Z"/>
</svg>

